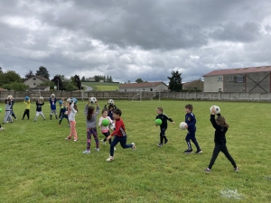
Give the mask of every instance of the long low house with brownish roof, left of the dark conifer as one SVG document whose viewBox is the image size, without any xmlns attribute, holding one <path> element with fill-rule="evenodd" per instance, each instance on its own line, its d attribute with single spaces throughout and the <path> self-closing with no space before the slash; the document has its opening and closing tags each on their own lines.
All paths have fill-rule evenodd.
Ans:
<svg viewBox="0 0 271 203">
<path fill-rule="evenodd" d="M 142 83 L 128 83 L 119 86 L 120 92 L 164 92 L 168 91 L 168 86 L 164 82 L 142 82 Z"/>
</svg>

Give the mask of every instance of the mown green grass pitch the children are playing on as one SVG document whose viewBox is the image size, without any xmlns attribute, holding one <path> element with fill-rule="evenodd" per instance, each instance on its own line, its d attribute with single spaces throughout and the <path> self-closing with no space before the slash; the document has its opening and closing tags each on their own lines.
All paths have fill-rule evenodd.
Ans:
<svg viewBox="0 0 271 203">
<path fill-rule="evenodd" d="M 106 100 L 99 101 L 104 106 Z M 70 133 L 67 120 L 49 120 L 50 105 L 42 107 L 33 122 L 21 120 L 24 106 L 14 104 L 18 116 L 0 132 L 0 202 L 271 202 L 270 125 L 267 103 L 209 101 L 115 101 L 123 111 L 127 143 L 136 150 L 123 150 L 117 144 L 115 160 L 107 162 L 109 144 L 91 153 L 86 150 L 86 124 L 79 103 L 76 115 L 78 142 L 66 141 Z M 197 118 L 197 140 L 202 154 L 184 154 L 184 106 L 191 103 Z M 229 152 L 238 164 L 220 154 L 212 171 L 208 166 L 214 147 L 214 129 L 210 125 L 211 105 L 218 105 L 229 123 Z M 5 109 L 2 103 L 0 107 Z M 166 131 L 169 142 L 158 148 L 159 127 L 154 126 L 156 107 L 173 118 Z M 59 108 L 58 108 L 59 110 Z M 4 113 L 0 114 L 3 120 Z M 99 116 L 98 116 L 99 117 Z M 104 138 L 98 130 L 99 140 Z M 195 149 L 193 145 L 193 149 Z"/>
</svg>

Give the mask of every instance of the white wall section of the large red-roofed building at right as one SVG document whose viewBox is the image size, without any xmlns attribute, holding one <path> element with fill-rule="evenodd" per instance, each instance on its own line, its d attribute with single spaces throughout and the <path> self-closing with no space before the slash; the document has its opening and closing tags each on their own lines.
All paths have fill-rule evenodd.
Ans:
<svg viewBox="0 0 271 203">
<path fill-rule="evenodd" d="M 220 80 L 220 78 L 222 80 Z M 204 92 L 223 92 L 223 75 L 205 76 Z"/>
</svg>

